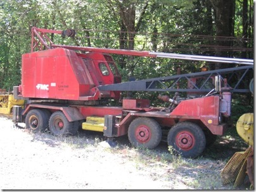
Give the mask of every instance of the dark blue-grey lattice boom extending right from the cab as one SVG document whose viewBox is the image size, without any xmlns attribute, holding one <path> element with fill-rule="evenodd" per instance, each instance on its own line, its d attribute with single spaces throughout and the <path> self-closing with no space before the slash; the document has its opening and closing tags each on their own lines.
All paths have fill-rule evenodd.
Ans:
<svg viewBox="0 0 256 192">
<path fill-rule="evenodd" d="M 245 76 L 250 75 L 252 71 L 253 66 L 240 66 L 237 68 L 217 69 L 212 71 L 151 78 L 147 80 L 114 83 L 111 85 L 101 85 L 98 88 L 101 91 L 115 90 L 139 92 L 210 92 L 210 90 L 214 88 L 207 86 L 208 83 L 211 81 L 211 77 L 220 75 L 227 78 L 227 87 L 233 87 L 230 90 L 231 92 L 248 93 L 250 92 L 250 89 L 248 85 L 245 85 Z M 196 85 L 195 82 L 192 82 L 192 78 L 200 78 L 201 85 Z M 237 78 L 239 80 L 235 81 L 234 83 L 234 78 Z M 188 81 L 193 85 L 193 88 L 187 87 Z M 224 81 L 224 78 L 222 78 L 222 81 Z M 177 88 L 177 83 L 179 83 L 179 88 Z"/>
</svg>

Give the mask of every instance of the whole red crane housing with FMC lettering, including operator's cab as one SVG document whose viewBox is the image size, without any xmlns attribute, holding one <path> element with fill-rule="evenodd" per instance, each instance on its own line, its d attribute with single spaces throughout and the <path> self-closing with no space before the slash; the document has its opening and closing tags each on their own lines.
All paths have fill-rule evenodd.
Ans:
<svg viewBox="0 0 256 192">
<path fill-rule="evenodd" d="M 96 86 L 121 80 L 118 71 L 112 73 L 106 57 L 108 62 L 113 61 L 108 54 L 79 54 L 63 48 L 23 54 L 22 95 L 39 99 L 92 100 L 94 97 L 97 100 Z M 109 75 L 103 75 L 99 63 L 106 64 Z M 114 63 L 113 66 L 116 68 Z M 119 92 L 102 92 L 100 97 L 118 98 L 119 95 Z"/>
</svg>

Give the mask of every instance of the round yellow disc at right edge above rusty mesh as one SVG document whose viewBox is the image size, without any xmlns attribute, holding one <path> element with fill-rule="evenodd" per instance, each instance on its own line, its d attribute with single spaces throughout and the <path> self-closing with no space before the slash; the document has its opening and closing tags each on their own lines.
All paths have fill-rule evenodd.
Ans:
<svg viewBox="0 0 256 192">
<path fill-rule="evenodd" d="M 253 113 L 243 114 L 238 119 L 236 131 L 246 143 L 253 146 Z"/>
</svg>

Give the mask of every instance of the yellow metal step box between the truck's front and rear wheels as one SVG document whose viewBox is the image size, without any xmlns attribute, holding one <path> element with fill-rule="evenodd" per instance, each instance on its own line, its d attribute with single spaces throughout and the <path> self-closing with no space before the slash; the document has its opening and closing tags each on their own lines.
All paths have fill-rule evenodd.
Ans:
<svg viewBox="0 0 256 192">
<path fill-rule="evenodd" d="M 86 117 L 86 122 L 82 123 L 82 129 L 103 132 L 104 117 Z"/>
</svg>

